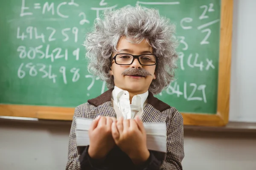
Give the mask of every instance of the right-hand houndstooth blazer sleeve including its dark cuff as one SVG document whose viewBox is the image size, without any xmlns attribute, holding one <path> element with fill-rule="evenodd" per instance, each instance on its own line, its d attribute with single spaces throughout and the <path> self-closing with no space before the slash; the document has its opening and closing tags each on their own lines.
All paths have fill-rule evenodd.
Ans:
<svg viewBox="0 0 256 170">
<path fill-rule="evenodd" d="M 136 170 L 182 170 L 181 161 L 184 158 L 183 149 L 183 117 L 176 108 L 169 110 L 167 116 L 167 152 L 150 150 L 150 157 L 145 164 Z"/>
</svg>

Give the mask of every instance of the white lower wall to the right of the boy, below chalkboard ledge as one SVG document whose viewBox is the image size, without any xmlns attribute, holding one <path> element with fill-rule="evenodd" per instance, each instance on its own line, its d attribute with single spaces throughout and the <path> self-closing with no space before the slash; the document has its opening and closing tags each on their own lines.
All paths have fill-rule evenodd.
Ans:
<svg viewBox="0 0 256 170">
<path fill-rule="evenodd" d="M 184 170 L 256 170 L 256 133 L 185 131 L 184 150 Z"/>
</svg>

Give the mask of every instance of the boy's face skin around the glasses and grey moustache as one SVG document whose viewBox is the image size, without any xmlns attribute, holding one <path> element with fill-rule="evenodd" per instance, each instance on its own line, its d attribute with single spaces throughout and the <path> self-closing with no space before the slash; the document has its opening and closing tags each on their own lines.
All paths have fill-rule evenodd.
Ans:
<svg viewBox="0 0 256 170">
<path fill-rule="evenodd" d="M 133 44 L 128 42 L 125 37 L 120 38 L 117 44 L 117 50 L 120 52 L 114 53 L 112 57 L 116 54 L 153 54 L 152 47 L 143 40 L 140 44 Z M 122 75 L 123 71 L 127 68 L 136 68 L 143 69 L 150 73 L 151 75 L 141 77 L 141 76 L 132 76 L 132 75 Z M 126 90 L 134 94 L 142 94 L 148 91 L 148 88 L 153 79 L 156 79 L 155 76 L 156 65 L 140 65 L 138 59 L 134 59 L 131 65 L 118 65 L 115 61 L 112 61 L 110 74 L 114 77 L 114 84 L 123 90 Z"/>
</svg>

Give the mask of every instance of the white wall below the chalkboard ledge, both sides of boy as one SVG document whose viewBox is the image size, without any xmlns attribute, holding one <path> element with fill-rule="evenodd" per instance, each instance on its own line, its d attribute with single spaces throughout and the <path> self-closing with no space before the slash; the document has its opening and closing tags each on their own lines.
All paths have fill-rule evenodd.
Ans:
<svg viewBox="0 0 256 170">
<path fill-rule="evenodd" d="M 64 170 L 69 127 L 2 122 L 0 170 Z M 184 170 L 256 170 L 256 133 L 185 130 L 184 136 Z"/>
</svg>

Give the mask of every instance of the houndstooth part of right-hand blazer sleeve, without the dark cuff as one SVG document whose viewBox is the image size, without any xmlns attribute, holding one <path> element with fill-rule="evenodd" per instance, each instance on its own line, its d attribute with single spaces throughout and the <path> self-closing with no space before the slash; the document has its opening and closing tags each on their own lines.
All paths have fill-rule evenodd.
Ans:
<svg viewBox="0 0 256 170">
<path fill-rule="evenodd" d="M 184 158 L 183 117 L 176 108 L 167 117 L 167 153 L 160 170 L 182 170 Z"/>
</svg>

